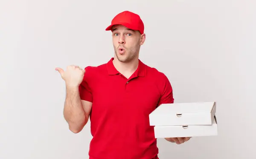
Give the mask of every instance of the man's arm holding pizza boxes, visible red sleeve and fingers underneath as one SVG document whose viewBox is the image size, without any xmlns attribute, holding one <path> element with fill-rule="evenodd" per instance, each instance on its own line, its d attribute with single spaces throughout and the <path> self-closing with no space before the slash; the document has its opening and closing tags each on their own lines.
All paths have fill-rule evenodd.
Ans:
<svg viewBox="0 0 256 159">
<path fill-rule="evenodd" d="M 161 104 L 170 104 L 174 103 L 173 98 L 173 90 L 172 85 L 169 81 L 169 79 L 166 77 L 166 75 L 163 74 L 163 84 L 162 84 L 162 90 L 161 90 L 161 98 L 157 106 L 160 106 Z M 178 138 L 165 138 L 169 142 L 175 142 L 176 144 L 183 144 L 184 142 L 189 141 L 191 137 L 178 137 Z"/>
</svg>

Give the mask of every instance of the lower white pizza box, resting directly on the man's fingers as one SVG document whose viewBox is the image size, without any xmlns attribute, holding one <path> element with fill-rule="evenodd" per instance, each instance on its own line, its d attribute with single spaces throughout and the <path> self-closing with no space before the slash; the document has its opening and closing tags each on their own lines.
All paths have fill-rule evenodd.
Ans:
<svg viewBox="0 0 256 159">
<path fill-rule="evenodd" d="M 216 116 L 210 125 L 154 126 L 155 138 L 176 138 L 195 136 L 217 136 Z"/>
</svg>

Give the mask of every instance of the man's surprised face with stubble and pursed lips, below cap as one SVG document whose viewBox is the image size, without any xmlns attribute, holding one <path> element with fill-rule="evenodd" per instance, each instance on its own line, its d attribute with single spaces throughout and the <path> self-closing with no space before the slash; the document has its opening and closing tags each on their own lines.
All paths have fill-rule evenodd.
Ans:
<svg viewBox="0 0 256 159">
<path fill-rule="evenodd" d="M 140 46 L 145 41 L 145 34 L 116 25 L 112 29 L 113 47 L 120 62 L 130 62 L 139 57 Z"/>
</svg>

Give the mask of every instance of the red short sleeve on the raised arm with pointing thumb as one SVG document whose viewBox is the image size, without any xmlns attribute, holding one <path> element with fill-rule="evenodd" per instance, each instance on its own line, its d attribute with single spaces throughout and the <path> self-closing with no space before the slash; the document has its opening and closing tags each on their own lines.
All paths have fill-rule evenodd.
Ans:
<svg viewBox="0 0 256 159">
<path fill-rule="evenodd" d="M 93 95 L 88 84 L 89 78 L 87 74 L 88 72 L 87 72 L 87 69 L 85 68 L 84 79 L 79 85 L 79 94 L 80 94 L 81 100 L 93 102 Z"/>
</svg>

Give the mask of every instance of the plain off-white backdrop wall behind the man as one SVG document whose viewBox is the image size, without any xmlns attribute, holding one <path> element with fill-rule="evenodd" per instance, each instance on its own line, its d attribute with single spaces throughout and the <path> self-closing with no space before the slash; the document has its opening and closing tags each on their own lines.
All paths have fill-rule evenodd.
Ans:
<svg viewBox="0 0 256 159">
<path fill-rule="evenodd" d="M 175 102 L 216 101 L 218 136 L 176 145 L 160 159 L 255 159 L 256 1 L 0 0 L 0 159 L 87 159 L 90 122 L 63 117 L 55 67 L 113 57 L 105 28 L 119 12 L 141 16 L 140 59 L 169 78 Z"/>
</svg>

